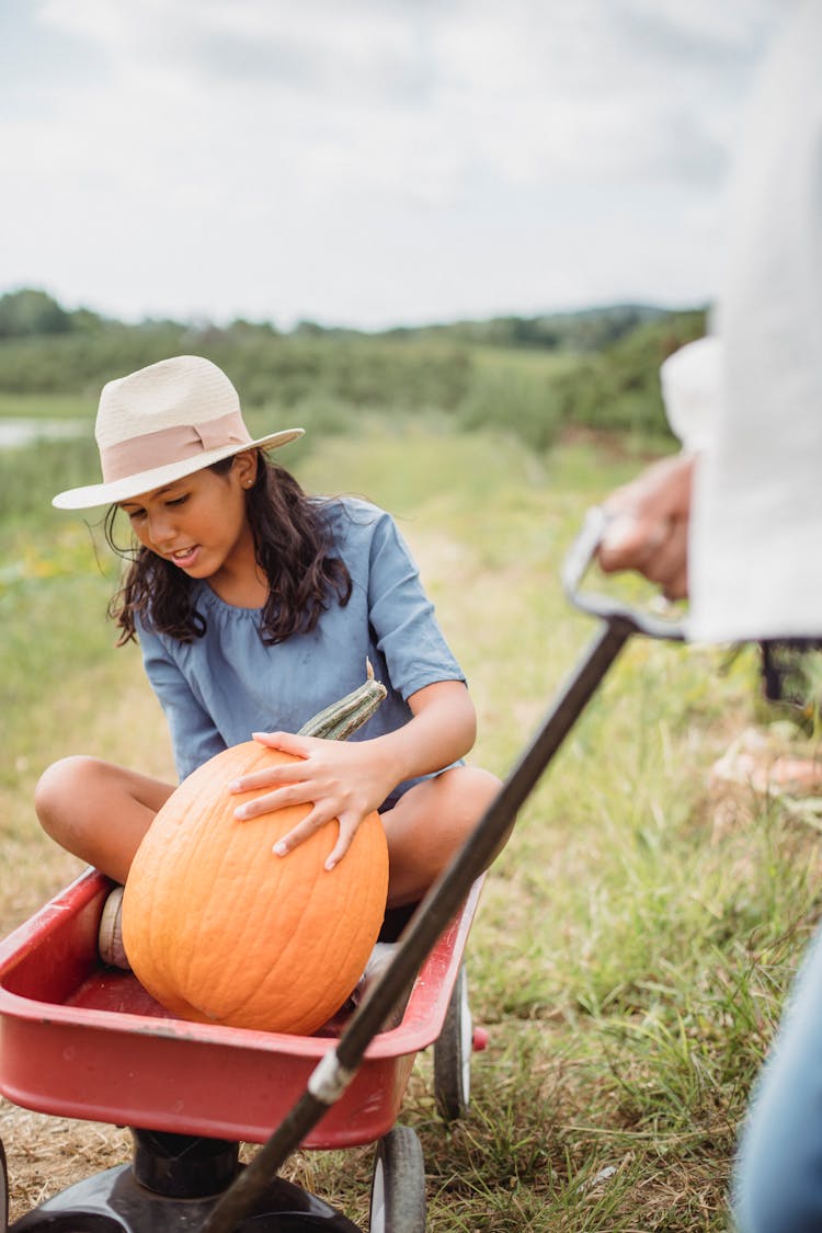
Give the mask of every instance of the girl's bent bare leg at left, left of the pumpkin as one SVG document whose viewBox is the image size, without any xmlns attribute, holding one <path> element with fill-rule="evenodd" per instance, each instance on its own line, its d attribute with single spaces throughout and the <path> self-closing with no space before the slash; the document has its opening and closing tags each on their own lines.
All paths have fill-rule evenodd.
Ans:
<svg viewBox="0 0 822 1233">
<path fill-rule="evenodd" d="M 173 784 L 136 771 L 70 757 L 43 773 L 35 808 L 60 847 L 124 883 L 143 835 L 173 792 Z"/>
</svg>

